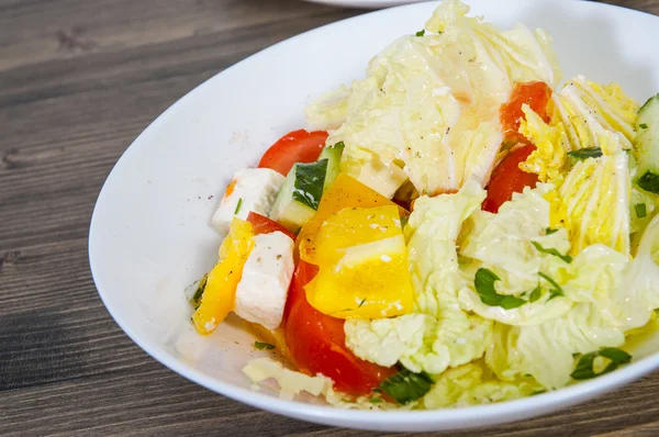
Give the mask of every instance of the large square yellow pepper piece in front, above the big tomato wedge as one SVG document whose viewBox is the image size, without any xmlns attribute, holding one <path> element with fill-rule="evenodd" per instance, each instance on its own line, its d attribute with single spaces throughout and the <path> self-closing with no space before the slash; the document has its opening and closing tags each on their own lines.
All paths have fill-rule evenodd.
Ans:
<svg viewBox="0 0 659 437">
<path fill-rule="evenodd" d="M 396 205 L 346 208 L 323 222 L 314 242 L 319 273 L 309 303 L 333 317 L 411 313 L 413 288 Z"/>
</svg>

